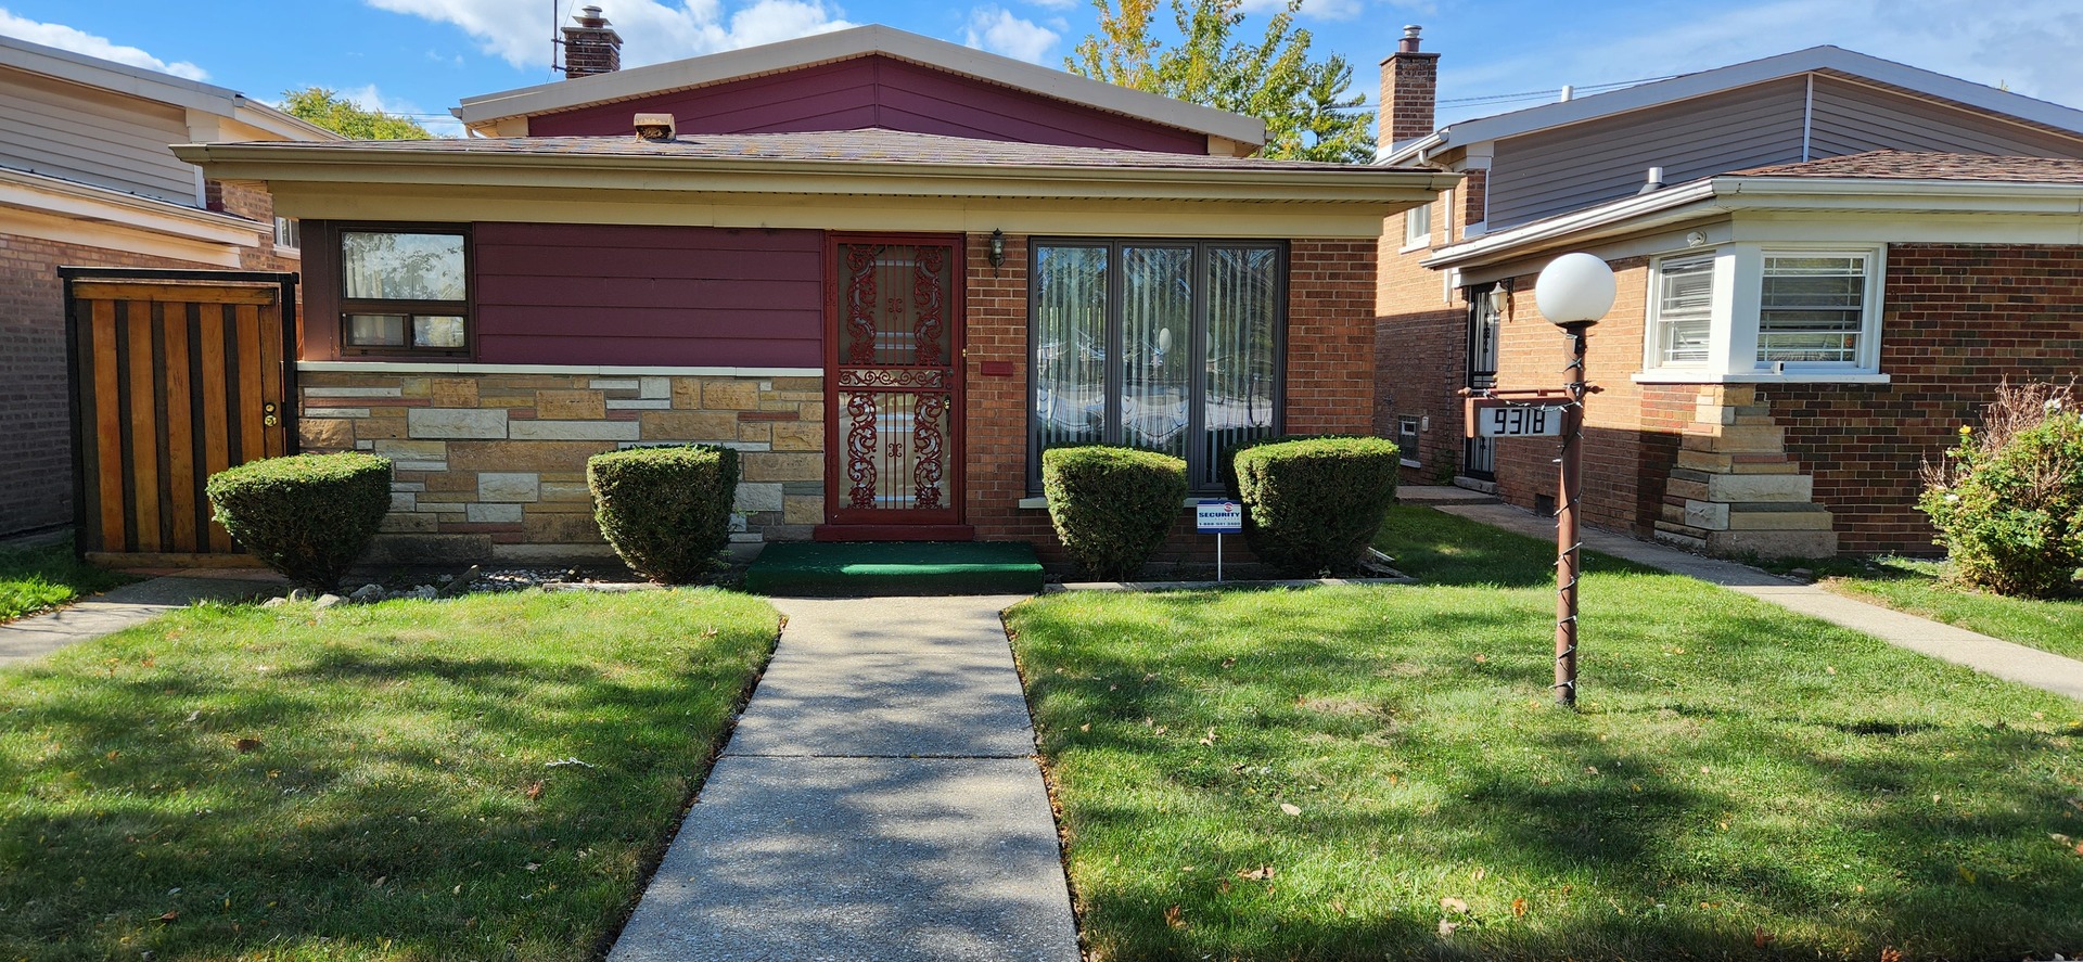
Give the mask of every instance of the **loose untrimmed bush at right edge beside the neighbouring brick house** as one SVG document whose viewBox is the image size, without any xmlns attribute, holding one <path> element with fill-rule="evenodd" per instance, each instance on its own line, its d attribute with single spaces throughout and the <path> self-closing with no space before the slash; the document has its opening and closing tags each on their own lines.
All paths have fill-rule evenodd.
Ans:
<svg viewBox="0 0 2083 962">
<path fill-rule="evenodd" d="M 1983 431 L 1925 464 L 1918 510 L 1939 529 L 1954 579 L 2002 596 L 2056 598 L 2083 564 L 2083 412 L 2066 387 L 2008 383 Z"/>
</svg>

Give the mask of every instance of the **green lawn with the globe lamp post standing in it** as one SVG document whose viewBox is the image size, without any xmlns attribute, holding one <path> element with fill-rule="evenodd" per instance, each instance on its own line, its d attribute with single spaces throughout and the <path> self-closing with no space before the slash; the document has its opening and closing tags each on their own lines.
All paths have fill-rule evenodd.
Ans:
<svg viewBox="0 0 2083 962">
<path fill-rule="evenodd" d="M 1593 556 L 1566 712 L 1544 543 L 1379 546 L 1429 583 L 1010 612 L 1098 960 L 2083 947 L 2083 704 Z"/>
</svg>

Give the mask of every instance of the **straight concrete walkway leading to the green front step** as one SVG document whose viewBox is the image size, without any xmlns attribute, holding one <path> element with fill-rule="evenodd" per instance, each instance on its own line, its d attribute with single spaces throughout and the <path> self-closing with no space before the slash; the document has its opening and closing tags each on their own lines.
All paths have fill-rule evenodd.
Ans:
<svg viewBox="0 0 2083 962">
<path fill-rule="evenodd" d="M 781 643 L 610 962 L 1077 962 L 1019 598 L 777 598 Z"/>
</svg>

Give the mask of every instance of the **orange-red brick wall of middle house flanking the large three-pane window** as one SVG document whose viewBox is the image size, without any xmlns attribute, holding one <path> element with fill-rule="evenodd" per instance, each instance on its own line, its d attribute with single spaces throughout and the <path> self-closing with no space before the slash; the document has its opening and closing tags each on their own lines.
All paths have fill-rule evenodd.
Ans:
<svg viewBox="0 0 2083 962">
<path fill-rule="evenodd" d="M 967 521 L 985 541 L 1033 541 L 1062 560 L 1048 512 L 1019 508 L 1027 496 L 1027 237 L 1006 237 L 1006 262 L 987 260 L 989 235 L 969 237 Z M 1296 239 L 1287 281 L 1287 431 L 1366 433 L 1375 375 L 1375 242 Z M 985 377 L 985 362 L 1012 364 Z M 1179 527 L 1158 560 L 1212 558 L 1214 539 Z M 1239 541 L 1239 539 L 1231 539 Z M 1248 560 L 1227 543 L 1229 560 Z"/>
</svg>

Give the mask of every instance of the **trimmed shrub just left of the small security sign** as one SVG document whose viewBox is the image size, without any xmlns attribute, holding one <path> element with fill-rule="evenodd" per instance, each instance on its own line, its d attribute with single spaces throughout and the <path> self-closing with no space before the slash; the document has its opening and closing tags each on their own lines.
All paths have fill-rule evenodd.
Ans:
<svg viewBox="0 0 2083 962">
<path fill-rule="evenodd" d="M 1133 448 L 1042 452 L 1042 493 L 1064 552 L 1104 581 L 1129 581 L 1185 506 L 1185 462 Z"/>
</svg>

